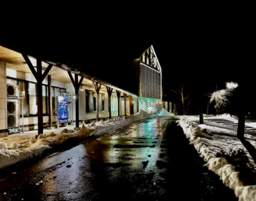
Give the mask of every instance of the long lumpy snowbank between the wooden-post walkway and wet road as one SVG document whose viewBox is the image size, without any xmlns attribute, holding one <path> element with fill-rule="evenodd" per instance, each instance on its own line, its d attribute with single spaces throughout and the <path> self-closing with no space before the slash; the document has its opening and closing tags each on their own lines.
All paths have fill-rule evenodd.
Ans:
<svg viewBox="0 0 256 201">
<path fill-rule="evenodd" d="M 23 144 L 12 143 L 8 147 L 5 142 L 0 142 L 0 169 L 22 160 L 41 155 L 45 150 L 52 148 L 54 145 L 64 143 L 68 139 L 72 140 L 72 142 L 76 142 L 88 136 L 99 135 L 106 130 L 148 118 L 153 118 L 153 116 L 140 110 L 134 115 L 124 116 L 123 118 L 119 117 L 113 120 L 92 122 L 86 125 L 83 124 L 81 128 L 76 128 L 76 130 L 64 128 L 59 133 L 51 132 L 48 135 L 40 134 L 37 140 L 32 137 L 29 142 Z"/>
</svg>

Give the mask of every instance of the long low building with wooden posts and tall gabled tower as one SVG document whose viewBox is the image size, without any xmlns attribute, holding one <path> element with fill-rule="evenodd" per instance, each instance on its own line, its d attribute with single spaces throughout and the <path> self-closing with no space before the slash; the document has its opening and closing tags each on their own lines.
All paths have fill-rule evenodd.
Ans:
<svg viewBox="0 0 256 201">
<path fill-rule="evenodd" d="M 105 68 L 100 73 L 0 46 L 0 136 L 34 129 L 39 135 L 55 123 L 77 128 L 79 121 L 140 109 L 156 114 L 163 107 L 162 69 L 153 46 L 127 58 L 122 61 L 125 76 L 109 76 Z"/>
</svg>

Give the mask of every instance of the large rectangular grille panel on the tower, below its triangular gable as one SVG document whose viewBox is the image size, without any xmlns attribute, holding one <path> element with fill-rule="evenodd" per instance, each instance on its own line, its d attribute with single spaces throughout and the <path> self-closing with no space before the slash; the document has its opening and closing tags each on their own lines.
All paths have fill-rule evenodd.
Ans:
<svg viewBox="0 0 256 201">
<path fill-rule="evenodd" d="M 141 97 L 161 99 L 161 73 L 141 64 Z"/>
</svg>

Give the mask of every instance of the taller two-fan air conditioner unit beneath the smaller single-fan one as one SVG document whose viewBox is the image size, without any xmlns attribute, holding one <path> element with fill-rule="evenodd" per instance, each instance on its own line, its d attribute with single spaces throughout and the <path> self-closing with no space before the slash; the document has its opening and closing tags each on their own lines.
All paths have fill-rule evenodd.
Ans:
<svg viewBox="0 0 256 201">
<path fill-rule="evenodd" d="M 20 126 L 19 100 L 7 99 L 7 125 L 8 128 Z"/>
</svg>

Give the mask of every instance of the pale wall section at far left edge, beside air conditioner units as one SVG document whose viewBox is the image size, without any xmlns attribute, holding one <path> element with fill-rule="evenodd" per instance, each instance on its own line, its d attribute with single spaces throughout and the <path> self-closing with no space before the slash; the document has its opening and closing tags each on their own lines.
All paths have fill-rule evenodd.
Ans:
<svg viewBox="0 0 256 201">
<path fill-rule="evenodd" d="M 6 137 L 7 129 L 6 64 L 0 61 L 0 137 Z M 4 132 L 1 132 L 3 130 Z"/>
</svg>

